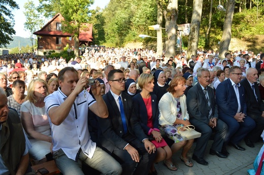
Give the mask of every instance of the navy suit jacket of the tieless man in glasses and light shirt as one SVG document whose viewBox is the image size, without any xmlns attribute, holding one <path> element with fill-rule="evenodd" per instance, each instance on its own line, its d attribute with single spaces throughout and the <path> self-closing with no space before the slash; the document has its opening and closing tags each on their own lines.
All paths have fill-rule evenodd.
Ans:
<svg viewBox="0 0 264 175">
<path fill-rule="evenodd" d="M 247 104 L 245 101 L 244 87 L 241 85 L 239 89 L 239 98 L 241 104 L 240 112 L 247 115 Z M 232 86 L 230 79 L 223 81 L 217 86 L 215 91 L 215 99 L 218 106 L 219 117 L 234 117 L 238 111 L 237 95 Z"/>
</svg>

